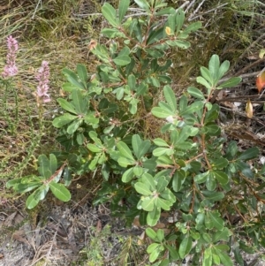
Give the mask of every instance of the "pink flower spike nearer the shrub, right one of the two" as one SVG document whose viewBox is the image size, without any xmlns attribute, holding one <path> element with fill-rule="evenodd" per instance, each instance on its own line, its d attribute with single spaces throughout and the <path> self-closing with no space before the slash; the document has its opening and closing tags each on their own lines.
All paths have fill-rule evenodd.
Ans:
<svg viewBox="0 0 265 266">
<path fill-rule="evenodd" d="M 42 66 L 38 70 L 36 79 L 39 80 L 39 85 L 37 87 L 37 97 L 42 99 L 43 103 L 49 103 L 50 98 L 48 94 L 49 90 L 49 63 L 47 61 L 42 61 Z"/>
</svg>

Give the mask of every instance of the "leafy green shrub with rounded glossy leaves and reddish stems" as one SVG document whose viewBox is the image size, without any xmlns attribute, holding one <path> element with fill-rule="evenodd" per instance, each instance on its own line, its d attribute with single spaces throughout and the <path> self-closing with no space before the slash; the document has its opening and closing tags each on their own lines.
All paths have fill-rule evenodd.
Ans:
<svg viewBox="0 0 265 266">
<path fill-rule="evenodd" d="M 236 86 L 240 79 L 220 84 L 230 63 L 221 64 L 213 55 L 208 67 L 201 66 L 200 88 L 188 87 L 177 97 L 170 87 L 172 62 L 167 53 L 189 48 L 187 38 L 201 23 L 186 25 L 184 11 L 163 1 L 135 3 L 144 11 L 135 18 L 125 17 L 129 0 L 120 1 L 118 11 L 110 4 L 102 6 L 111 26 L 102 34 L 110 42 L 91 45 L 101 62 L 95 74 L 84 65 L 77 65 L 75 72 L 63 70 L 69 98 L 57 99 L 64 113 L 53 125 L 64 152 L 39 157 L 42 178 L 29 196 L 34 203 L 28 200 L 27 207 L 34 208 L 52 187 L 59 199 L 70 199 L 68 190 L 57 184 L 65 162 L 67 170 L 78 174 L 100 170 L 104 182 L 94 203 L 110 201 L 112 214 L 125 217 L 129 225 L 136 216 L 148 224 L 152 265 L 193 255 L 193 265 L 229 266 L 231 252 L 244 265 L 240 250 L 252 253 L 264 247 L 260 181 L 265 167 L 250 163 L 259 155 L 258 148 L 241 152 L 236 141 L 223 137 L 216 123 L 219 106 L 210 102 L 216 90 Z M 151 116 L 155 138 L 145 132 Z M 64 162 L 59 171 L 56 156 Z M 65 177 L 68 185 L 68 171 Z M 8 186 L 21 192 L 22 181 L 36 188 L 31 179 L 13 180 Z M 126 206 L 120 206 L 122 199 Z M 178 221 L 167 235 L 155 232 L 153 226 L 167 211 L 178 212 Z M 232 224 L 231 216 L 242 223 Z"/>
</svg>

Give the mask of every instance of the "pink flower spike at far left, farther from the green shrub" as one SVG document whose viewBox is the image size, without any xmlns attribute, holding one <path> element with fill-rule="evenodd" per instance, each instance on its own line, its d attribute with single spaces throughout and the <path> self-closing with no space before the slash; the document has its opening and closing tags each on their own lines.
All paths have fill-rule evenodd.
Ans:
<svg viewBox="0 0 265 266">
<path fill-rule="evenodd" d="M 7 37 L 7 48 L 6 65 L 4 66 L 4 72 L 2 72 L 3 78 L 9 78 L 18 73 L 18 67 L 16 66 L 16 53 L 19 49 L 18 41 L 12 36 Z"/>
</svg>

